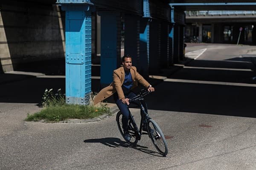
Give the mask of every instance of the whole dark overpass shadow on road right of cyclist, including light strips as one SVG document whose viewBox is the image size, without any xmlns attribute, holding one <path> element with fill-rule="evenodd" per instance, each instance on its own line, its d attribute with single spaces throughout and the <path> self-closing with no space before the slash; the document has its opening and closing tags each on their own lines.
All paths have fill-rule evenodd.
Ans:
<svg viewBox="0 0 256 170">
<path fill-rule="evenodd" d="M 156 86 L 156 92 L 147 97 L 148 108 L 256 117 L 256 81 L 252 79 L 256 73 L 251 67 L 251 63 L 194 60 Z"/>
</svg>

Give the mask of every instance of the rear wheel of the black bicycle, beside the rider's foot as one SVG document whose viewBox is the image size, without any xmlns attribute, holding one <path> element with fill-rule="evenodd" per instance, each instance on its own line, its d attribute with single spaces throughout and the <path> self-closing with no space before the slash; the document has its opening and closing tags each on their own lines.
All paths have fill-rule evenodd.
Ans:
<svg viewBox="0 0 256 170">
<path fill-rule="evenodd" d="M 122 112 L 121 111 L 119 111 L 116 114 L 116 122 L 117 122 L 117 126 L 118 126 L 118 129 L 119 129 L 122 137 L 125 139 L 125 135 L 124 135 L 123 128 L 122 128 Z M 128 141 L 125 139 L 125 141 L 129 144 L 136 145 L 138 142 L 138 139 L 137 139 L 137 135 L 135 133 L 135 130 L 134 130 L 133 125 L 131 124 L 130 120 L 128 122 L 128 125 L 129 125 L 128 131 L 131 135 L 131 140 Z"/>
</svg>

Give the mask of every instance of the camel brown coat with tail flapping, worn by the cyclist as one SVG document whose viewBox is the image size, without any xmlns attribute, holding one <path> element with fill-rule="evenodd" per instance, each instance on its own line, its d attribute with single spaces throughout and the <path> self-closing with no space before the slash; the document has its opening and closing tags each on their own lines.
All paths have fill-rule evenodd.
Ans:
<svg viewBox="0 0 256 170">
<path fill-rule="evenodd" d="M 145 88 L 148 88 L 150 85 L 138 72 L 137 68 L 134 66 L 131 66 L 131 78 L 133 80 L 133 86 L 131 89 L 138 86 L 138 82 L 142 84 Z M 113 71 L 113 82 L 103 88 L 99 94 L 96 95 L 96 97 L 93 100 L 94 105 L 96 105 L 99 102 L 102 102 L 102 100 L 107 99 L 109 96 L 114 94 L 117 91 L 119 99 L 122 99 L 125 97 L 123 91 L 122 91 L 122 84 L 125 80 L 125 70 L 124 67 L 117 68 Z"/>
</svg>

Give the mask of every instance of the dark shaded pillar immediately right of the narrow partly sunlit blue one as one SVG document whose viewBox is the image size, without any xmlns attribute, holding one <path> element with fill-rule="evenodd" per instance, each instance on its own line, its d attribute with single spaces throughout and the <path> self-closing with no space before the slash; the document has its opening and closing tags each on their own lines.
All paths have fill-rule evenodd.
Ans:
<svg viewBox="0 0 256 170">
<path fill-rule="evenodd" d="M 153 19 L 150 23 L 149 74 L 160 71 L 160 21 Z"/>
</svg>

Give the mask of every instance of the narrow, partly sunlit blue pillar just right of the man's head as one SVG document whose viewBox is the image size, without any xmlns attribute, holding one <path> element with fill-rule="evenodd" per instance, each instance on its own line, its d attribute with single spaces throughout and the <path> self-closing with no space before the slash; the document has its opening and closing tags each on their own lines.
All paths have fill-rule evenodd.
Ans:
<svg viewBox="0 0 256 170">
<path fill-rule="evenodd" d="M 143 0 L 144 16 L 140 19 L 140 74 L 148 77 L 149 68 L 149 23 L 151 21 L 149 1 Z"/>
</svg>

